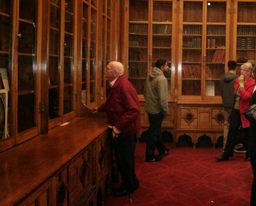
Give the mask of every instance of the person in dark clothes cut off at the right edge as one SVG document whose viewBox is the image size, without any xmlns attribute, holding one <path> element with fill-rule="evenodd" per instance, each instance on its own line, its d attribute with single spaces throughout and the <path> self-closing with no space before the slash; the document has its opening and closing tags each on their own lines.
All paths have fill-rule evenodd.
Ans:
<svg viewBox="0 0 256 206">
<path fill-rule="evenodd" d="M 256 83 L 256 65 L 252 69 L 252 76 Z M 254 86 L 249 105 L 256 104 L 256 86 Z M 250 121 L 249 137 L 248 137 L 248 151 L 250 156 L 250 165 L 253 171 L 253 180 L 251 185 L 250 206 L 256 205 L 256 122 Z"/>
</svg>

